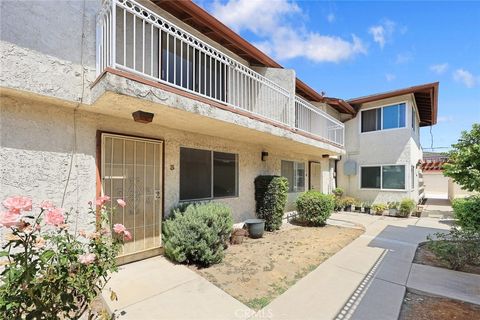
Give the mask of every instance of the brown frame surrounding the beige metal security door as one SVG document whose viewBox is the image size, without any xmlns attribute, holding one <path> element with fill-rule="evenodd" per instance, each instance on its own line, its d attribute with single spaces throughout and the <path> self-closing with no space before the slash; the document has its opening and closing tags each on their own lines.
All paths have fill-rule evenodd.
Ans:
<svg viewBox="0 0 480 320">
<path fill-rule="evenodd" d="M 95 166 L 96 166 L 96 190 L 95 190 L 95 196 L 98 198 L 102 195 L 102 136 L 103 134 L 111 134 L 111 135 L 116 135 L 119 137 L 125 137 L 125 138 L 133 138 L 133 139 L 147 139 L 151 141 L 156 141 L 156 142 L 161 142 L 162 143 L 162 165 L 161 165 L 161 171 L 162 171 L 162 212 L 160 215 L 161 221 L 165 220 L 165 140 L 163 139 L 158 139 L 158 138 L 151 138 L 151 137 L 146 137 L 146 136 L 138 136 L 138 135 L 131 135 L 131 134 L 124 134 L 124 133 L 118 133 L 118 132 L 112 132 L 112 131 L 103 131 L 103 130 L 97 130 L 96 133 L 96 154 L 95 154 Z M 97 207 L 96 208 L 96 221 L 97 221 L 97 230 L 100 229 L 100 210 Z M 162 236 L 162 230 L 160 230 L 160 239 Z M 163 243 L 163 242 L 162 242 Z M 163 253 L 163 246 L 160 246 L 160 250 L 158 254 Z M 133 256 L 133 255 L 131 255 Z M 131 258 L 128 255 L 123 256 L 123 257 L 117 257 L 117 264 L 124 264 L 132 261 L 139 260 L 138 258 Z"/>
</svg>

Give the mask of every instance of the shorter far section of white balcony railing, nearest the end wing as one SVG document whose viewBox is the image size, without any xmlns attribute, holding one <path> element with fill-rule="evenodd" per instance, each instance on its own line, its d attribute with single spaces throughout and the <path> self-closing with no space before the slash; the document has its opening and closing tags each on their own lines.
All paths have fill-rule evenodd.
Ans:
<svg viewBox="0 0 480 320">
<path fill-rule="evenodd" d="M 295 128 L 343 146 L 344 124 L 298 96 L 295 97 Z"/>
</svg>

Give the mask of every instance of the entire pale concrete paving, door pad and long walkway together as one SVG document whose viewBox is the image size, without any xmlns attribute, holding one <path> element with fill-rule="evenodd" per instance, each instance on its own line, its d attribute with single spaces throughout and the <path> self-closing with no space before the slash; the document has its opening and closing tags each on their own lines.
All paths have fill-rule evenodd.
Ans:
<svg viewBox="0 0 480 320">
<path fill-rule="evenodd" d="M 331 223 L 360 224 L 366 231 L 257 313 L 190 269 L 162 257 L 121 267 L 110 282 L 119 301 L 108 302 L 109 308 L 117 310 L 120 319 L 393 320 L 398 317 L 407 283 L 425 290 L 435 281 L 438 270 L 412 268 L 412 261 L 419 242 L 449 228 L 441 219 L 336 213 Z M 438 276 L 444 276 L 444 271 Z M 422 272 L 433 278 L 421 281 Z M 478 288 L 476 279 L 473 286 Z M 445 288 L 429 290 L 441 294 Z M 478 295 L 467 289 L 456 297 L 465 298 L 469 293 Z"/>
</svg>

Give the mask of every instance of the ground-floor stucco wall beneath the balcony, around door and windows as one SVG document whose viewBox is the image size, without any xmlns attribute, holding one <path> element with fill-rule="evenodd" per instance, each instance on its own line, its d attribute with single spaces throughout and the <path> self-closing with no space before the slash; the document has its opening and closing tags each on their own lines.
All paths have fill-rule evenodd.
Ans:
<svg viewBox="0 0 480 320">
<path fill-rule="evenodd" d="M 75 115 L 74 115 L 75 114 Z M 82 109 L 44 105 L 35 101 L 4 98 L 1 103 L 1 188 L 0 198 L 23 194 L 36 203 L 51 199 L 61 204 L 68 180 L 74 145 L 76 118 L 76 152 L 73 155 L 64 208 L 79 212 L 81 227 L 87 227 L 87 203 L 95 198 L 97 130 L 146 136 L 165 141 L 165 212 L 179 201 L 179 148 L 196 147 L 237 153 L 239 155 L 239 197 L 219 201 L 228 203 L 236 221 L 252 217 L 255 211 L 253 180 L 259 174 L 280 174 L 281 160 L 322 161 L 288 150 L 269 149 L 261 161 L 263 147 L 173 130 L 154 124 L 144 125 L 131 119 L 113 118 Z M 32 139 L 35 137 L 35 139 Z M 170 168 L 173 166 L 173 170 Z M 306 184 L 308 176 L 305 177 Z M 307 185 L 305 186 L 307 188 Z M 290 202 L 295 196 L 290 195 Z"/>
</svg>

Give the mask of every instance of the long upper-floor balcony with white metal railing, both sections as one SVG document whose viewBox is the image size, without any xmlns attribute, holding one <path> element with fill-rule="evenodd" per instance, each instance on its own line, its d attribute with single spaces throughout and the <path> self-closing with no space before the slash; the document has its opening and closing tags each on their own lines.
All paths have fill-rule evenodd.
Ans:
<svg viewBox="0 0 480 320">
<path fill-rule="evenodd" d="M 135 1 L 103 1 L 96 57 L 97 75 L 126 71 L 344 145 L 343 123 Z"/>
</svg>

